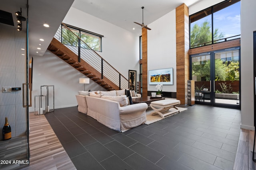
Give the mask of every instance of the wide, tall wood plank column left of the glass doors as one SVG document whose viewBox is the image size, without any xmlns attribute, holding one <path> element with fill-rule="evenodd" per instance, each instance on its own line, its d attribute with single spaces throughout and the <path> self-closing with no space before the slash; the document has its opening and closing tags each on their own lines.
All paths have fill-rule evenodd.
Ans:
<svg viewBox="0 0 256 170">
<path fill-rule="evenodd" d="M 176 77 L 176 98 L 180 100 L 180 104 L 188 104 L 189 16 L 186 4 L 176 8 Z"/>
</svg>

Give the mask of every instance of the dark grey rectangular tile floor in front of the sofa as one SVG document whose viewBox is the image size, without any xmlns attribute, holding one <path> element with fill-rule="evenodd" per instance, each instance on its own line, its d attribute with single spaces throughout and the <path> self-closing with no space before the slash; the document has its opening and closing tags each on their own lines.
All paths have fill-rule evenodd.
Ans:
<svg viewBox="0 0 256 170">
<path fill-rule="evenodd" d="M 240 110 L 203 105 L 119 133 L 77 107 L 46 114 L 78 170 L 233 169 Z"/>
</svg>

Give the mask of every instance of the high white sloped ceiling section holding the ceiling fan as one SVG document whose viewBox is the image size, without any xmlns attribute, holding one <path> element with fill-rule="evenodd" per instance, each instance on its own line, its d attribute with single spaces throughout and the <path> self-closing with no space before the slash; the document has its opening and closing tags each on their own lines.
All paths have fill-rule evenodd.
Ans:
<svg viewBox="0 0 256 170">
<path fill-rule="evenodd" d="M 200 1 L 202 0 L 75 0 L 72 7 L 139 35 L 141 27 L 133 22 L 142 23 L 142 6 L 144 24 L 148 25 L 183 3 L 191 6 Z"/>
</svg>

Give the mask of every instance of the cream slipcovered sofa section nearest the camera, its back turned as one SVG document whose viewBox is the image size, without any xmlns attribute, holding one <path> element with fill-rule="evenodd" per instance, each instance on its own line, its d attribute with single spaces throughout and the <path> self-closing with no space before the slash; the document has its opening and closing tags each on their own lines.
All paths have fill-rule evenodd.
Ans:
<svg viewBox="0 0 256 170">
<path fill-rule="evenodd" d="M 119 102 L 91 96 L 86 101 L 87 115 L 110 129 L 124 132 L 146 122 L 146 103 L 121 107 Z"/>
</svg>

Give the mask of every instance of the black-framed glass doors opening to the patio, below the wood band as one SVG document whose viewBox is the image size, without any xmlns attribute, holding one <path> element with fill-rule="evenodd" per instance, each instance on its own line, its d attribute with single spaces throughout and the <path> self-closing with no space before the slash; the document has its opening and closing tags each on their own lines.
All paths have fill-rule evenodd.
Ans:
<svg viewBox="0 0 256 170">
<path fill-rule="evenodd" d="M 190 56 L 190 79 L 195 80 L 197 104 L 240 107 L 240 49 Z"/>
</svg>

